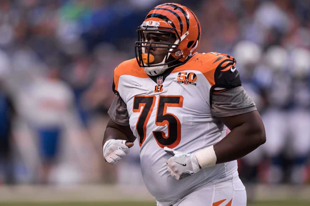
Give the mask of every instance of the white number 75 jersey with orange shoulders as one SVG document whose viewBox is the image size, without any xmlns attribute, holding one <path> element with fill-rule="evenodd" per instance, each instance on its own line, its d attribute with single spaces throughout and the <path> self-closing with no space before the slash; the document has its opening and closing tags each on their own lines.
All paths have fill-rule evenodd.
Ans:
<svg viewBox="0 0 310 206">
<path fill-rule="evenodd" d="M 215 86 L 229 88 L 240 82 L 234 65 L 228 55 L 207 53 L 196 54 L 156 78 L 149 77 L 135 59 L 124 61 L 114 70 L 113 90 L 127 105 L 131 130 L 140 144 L 144 183 L 157 201 L 171 204 L 237 171 L 237 161 L 232 161 L 176 180 L 167 170 L 166 160 L 171 155 L 163 149 L 167 146 L 193 153 L 226 136 L 226 126 L 211 114 L 210 91 Z M 223 83 L 228 78 L 230 86 Z"/>
</svg>

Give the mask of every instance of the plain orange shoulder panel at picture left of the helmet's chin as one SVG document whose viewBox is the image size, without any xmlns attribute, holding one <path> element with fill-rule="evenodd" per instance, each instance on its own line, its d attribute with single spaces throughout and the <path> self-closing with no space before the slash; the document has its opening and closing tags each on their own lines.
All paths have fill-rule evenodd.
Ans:
<svg viewBox="0 0 310 206">
<path fill-rule="evenodd" d="M 139 67 L 136 59 L 130 59 L 123 61 L 114 69 L 114 84 L 115 90 L 118 88 L 118 80 L 122 75 L 131 75 L 139 78 L 148 78 L 148 75 L 145 73 L 143 67 Z"/>
</svg>

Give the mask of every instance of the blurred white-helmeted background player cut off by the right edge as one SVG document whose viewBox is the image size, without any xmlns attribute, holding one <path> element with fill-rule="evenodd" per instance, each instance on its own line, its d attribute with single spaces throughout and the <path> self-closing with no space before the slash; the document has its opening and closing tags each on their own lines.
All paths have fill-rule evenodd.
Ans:
<svg viewBox="0 0 310 206">
<path fill-rule="evenodd" d="M 306 164 L 310 152 L 310 51 L 295 48 L 291 52 L 290 71 L 293 76 L 294 107 L 290 111 L 291 183 L 306 181 Z"/>
</svg>

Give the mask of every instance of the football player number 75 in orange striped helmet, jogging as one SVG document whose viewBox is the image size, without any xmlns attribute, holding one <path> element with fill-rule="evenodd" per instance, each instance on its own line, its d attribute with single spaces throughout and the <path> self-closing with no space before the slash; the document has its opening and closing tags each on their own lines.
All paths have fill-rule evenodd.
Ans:
<svg viewBox="0 0 310 206">
<path fill-rule="evenodd" d="M 105 160 L 117 163 L 138 138 L 142 176 L 157 205 L 246 205 L 236 159 L 266 137 L 236 60 L 197 53 L 200 23 L 180 4 L 154 7 L 137 32 L 136 58 L 114 70 Z"/>
</svg>

